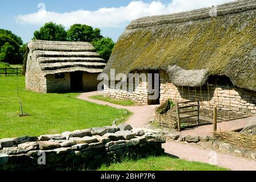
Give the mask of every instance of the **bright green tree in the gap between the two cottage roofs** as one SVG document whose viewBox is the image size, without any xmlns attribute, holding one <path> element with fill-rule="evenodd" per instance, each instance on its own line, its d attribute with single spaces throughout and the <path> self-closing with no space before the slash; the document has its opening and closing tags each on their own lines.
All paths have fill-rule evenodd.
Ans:
<svg viewBox="0 0 256 182">
<path fill-rule="evenodd" d="M 107 37 L 101 39 L 94 39 L 92 44 L 99 53 L 99 55 L 101 55 L 102 59 L 108 61 L 112 53 L 112 49 L 115 46 L 114 41 L 111 38 Z"/>
</svg>

